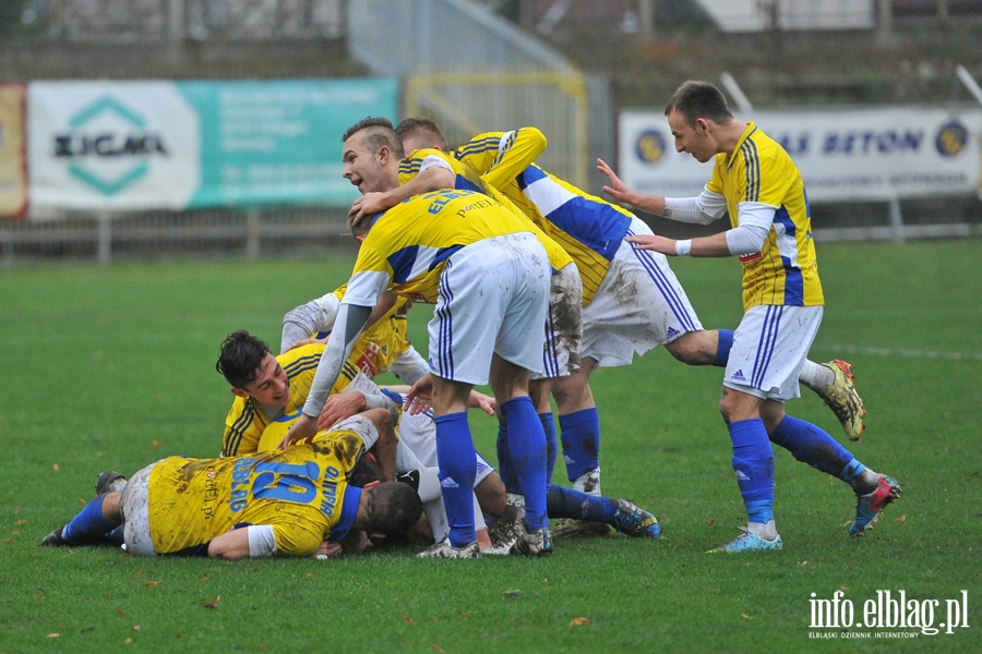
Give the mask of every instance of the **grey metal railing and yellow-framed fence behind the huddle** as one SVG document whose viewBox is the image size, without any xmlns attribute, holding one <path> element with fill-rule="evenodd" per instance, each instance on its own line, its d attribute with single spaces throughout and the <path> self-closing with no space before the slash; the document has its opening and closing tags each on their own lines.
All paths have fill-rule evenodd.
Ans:
<svg viewBox="0 0 982 654">
<path fill-rule="evenodd" d="M 348 48 L 376 74 L 404 80 L 406 113 L 434 119 L 452 145 L 536 125 L 549 140 L 539 162 L 586 185 L 585 76 L 487 9 L 465 0 L 361 0 L 349 7 Z"/>
</svg>

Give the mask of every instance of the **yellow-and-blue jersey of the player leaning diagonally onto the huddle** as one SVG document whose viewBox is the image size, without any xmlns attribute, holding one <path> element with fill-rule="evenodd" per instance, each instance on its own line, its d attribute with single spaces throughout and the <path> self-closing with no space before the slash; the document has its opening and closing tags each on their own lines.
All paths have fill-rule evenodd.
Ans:
<svg viewBox="0 0 982 654">
<path fill-rule="evenodd" d="M 583 303 L 603 281 L 610 262 L 627 234 L 633 214 L 590 195 L 531 162 L 537 153 L 538 130 L 488 132 L 471 138 L 453 156 L 486 181 L 493 182 L 508 199 L 565 250 L 583 279 Z M 540 149 L 538 152 L 541 152 Z"/>
</svg>

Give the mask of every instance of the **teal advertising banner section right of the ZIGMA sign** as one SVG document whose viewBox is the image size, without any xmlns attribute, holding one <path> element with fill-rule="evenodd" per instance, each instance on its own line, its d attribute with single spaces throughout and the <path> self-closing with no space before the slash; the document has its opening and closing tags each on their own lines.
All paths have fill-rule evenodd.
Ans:
<svg viewBox="0 0 982 654">
<path fill-rule="evenodd" d="M 342 134 L 367 116 L 396 120 L 395 80 L 179 82 L 201 117 L 202 184 L 190 206 L 347 206 Z"/>
</svg>

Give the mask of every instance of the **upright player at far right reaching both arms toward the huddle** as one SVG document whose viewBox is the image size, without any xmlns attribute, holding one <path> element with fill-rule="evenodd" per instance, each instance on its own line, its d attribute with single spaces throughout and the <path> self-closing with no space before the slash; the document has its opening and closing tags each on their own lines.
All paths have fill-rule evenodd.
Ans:
<svg viewBox="0 0 982 654">
<path fill-rule="evenodd" d="M 602 161 L 615 199 L 683 222 L 724 215 L 730 229 L 672 240 L 636 235 L 639 250 L 669 256 L 736 256 L 743 266 L 744 316 L 733 335 L 719 410 L 733 444 L 733 471 L 747 511 L 745 533 L 714 552 L 780 549 L 774 522 L 770 441 L 848 483 L 857 495 L 850 535 L 871 529 L 900 485 L 860 463 L 819 427 L 785 412 L 799 397 L 798 375 L 822 323 L 824 298 L 804 182 L 785 149 L 752 122 L 736 120 L 718 88 L 684 83 L 664 110 L 675 149 L 714 161 L 697 197 L 634 193 Z"/>
</svg>

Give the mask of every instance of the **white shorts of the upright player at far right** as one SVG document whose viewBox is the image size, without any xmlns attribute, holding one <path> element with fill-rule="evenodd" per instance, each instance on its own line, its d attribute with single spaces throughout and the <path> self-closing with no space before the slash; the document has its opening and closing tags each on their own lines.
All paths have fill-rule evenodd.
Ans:
<svg viewBox="0 0 982 654">
<path fill-rule="evenodd" d="M 800 397 L 798 374 L 823 312 L 822 306 L 752 306 L 733 332 L 723 386 L 778 402 Z"/>
</svg>

